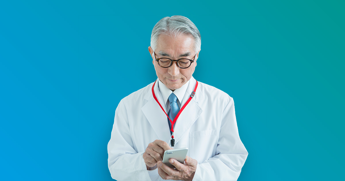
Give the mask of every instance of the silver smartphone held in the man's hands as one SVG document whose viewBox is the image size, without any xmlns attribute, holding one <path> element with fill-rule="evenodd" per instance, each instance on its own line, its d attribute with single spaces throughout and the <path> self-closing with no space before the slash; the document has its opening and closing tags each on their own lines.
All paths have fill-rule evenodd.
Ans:
<svg viewBox="0 0 345 181">
<path fill-rule="evenodd" d="M 180 163 L 184 164 L 187 156 L 188 148 L 178 148 L 173 150 L 166 150 L 163 155 L 163 163 L 168 165 L 170 168 L 175 169 L 174 165 L 171 165 L 169 159 L 175 159 Z"/>
</svg>

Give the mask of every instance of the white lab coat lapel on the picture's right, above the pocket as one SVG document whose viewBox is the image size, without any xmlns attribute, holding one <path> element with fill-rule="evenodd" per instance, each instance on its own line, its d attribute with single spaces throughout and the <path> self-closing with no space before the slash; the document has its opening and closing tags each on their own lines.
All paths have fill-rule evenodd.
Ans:
<svg viewBox="0 0 345 181">
<path fill-rule="evenodd" d="M 192 77 L 190 79 L 186 94 L 183 100 L 188 100 L 190 94 L 193 92 L 195 88 L 196 80 Z M 185 109 L 181 112 L 180 116 L 176 120 L 175 128 L 174 128 L 174 139 L 175 144 L 183 137 L 184 134 L 187 133 L 187 130 L 195 123 L 198 117 L 201 115 L 203 110 L 198 105 L 198 101 L 203 97 L 203 93 L 200 89 L 200 83 L 198 84 L 198 88 L 196 90 L 195 96 L 193 99 L 190 100 L 188 105 Z M 181 105 L 182 107 L 182 105 Z"/>
</svg>

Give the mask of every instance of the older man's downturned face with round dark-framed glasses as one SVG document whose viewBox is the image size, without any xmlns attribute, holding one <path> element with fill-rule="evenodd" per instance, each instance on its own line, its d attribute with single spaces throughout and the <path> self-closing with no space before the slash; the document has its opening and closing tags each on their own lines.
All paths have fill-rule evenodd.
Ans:
<svg viewBox="0 0 345 181">
<path fill-rule="evenodd" d="M 196 54 L 194 62 L 187 69 L 179 68 L 176 61 L 168 68 L 159 66 L 158 62 L 155 60 L 154 52 L 149 46 L 157 77 L 167 88 L 171 90 L 179 89 L 191 78 L 199 55 L 199 52 L 194 51 L 193 46 L 194 38 L 188 35 L 180 35 L 177 36 L 176 39 L 168 35 L 160 35 L 157 40 L 157 47 L 155 50 L 156 58 L 171 58 L 172 60 L 187 58 L 193 60 Z"/>
</svg>

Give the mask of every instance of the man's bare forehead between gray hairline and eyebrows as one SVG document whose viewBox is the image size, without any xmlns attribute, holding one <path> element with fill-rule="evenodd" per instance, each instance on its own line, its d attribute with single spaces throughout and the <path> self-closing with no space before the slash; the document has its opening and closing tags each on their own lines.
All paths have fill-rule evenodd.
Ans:
<svg viewBox="0 0 345 181">
<path fill-rule="evenodd" d="M 172 37 L 161 34 L 157 40 L 156 51 L 164 51 L 169 54 L 193 52 L 194 38 L 191 35 L 179 35 Z"/>
</svg>

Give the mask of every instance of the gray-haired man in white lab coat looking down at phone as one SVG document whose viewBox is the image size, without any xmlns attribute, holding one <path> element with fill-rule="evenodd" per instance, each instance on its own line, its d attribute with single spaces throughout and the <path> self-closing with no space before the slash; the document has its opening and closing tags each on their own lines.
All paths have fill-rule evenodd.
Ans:
<svg viewBox="0 0 345 181">
<path fill-rule="evenodd" d="M 116 109 L 108 144 L 112 178 L 237 180 L 248 152 L 238 135 L 234 101 L 193 78 L 200 46 L 199 30 L 188 18 L 157 22 L 148 49 L 158 79 Z M 162 163 L 165 150 L 184 147 L 184 164 L 170 159 L 172 169 Z"/>
</svg>

